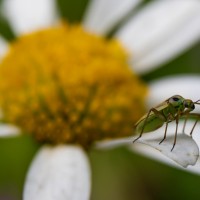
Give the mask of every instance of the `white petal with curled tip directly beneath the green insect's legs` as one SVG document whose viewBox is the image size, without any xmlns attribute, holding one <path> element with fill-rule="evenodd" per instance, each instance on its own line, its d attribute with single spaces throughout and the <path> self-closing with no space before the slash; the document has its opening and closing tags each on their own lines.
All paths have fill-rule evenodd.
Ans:
<svg viewBox="0 0 200 200">
<path fill-rule="evenodd" d="M 133 143 L 134 139 L 138 136 L 133 136 L 129 138 L 121 138 L 110 141 L 103 141 L 96 143 L 96 147 L 99 149 L 109 149 L 115 148 L 122 145 L 129 145 L 130 149 L 134 152 L 142 154 L 146 157 L 164 162 L 167 165 L 184 169 L 192 173 L 200 174 L 200 159 L 199 159 L 199 148 L 200 148 L 200 125 L 198 124 L 193 131 L 192 138 L 188 136 L 194 125 L 194 121 L 189 120 L 186 124 L 185 134 L 183 133 L 183 120 L 179 122 L 178 126 L 178 138 L 177 144 L 175 145 L 173 151 L 171 148 L 173 146 L 173 139 L 175 135 L 175 122 L 169 123 L 167 131 L 167 140 L 159 145 L 159 142 L 163 139 L 165 126 L 162 128 L 143 134 L 139 142 Z M 198 160 L 197 160 L 198 159 Z M 193 165 L 193 166 L 188 166 Z M 183 167 L 187 167 L 187 169 Z"/>
</svg>

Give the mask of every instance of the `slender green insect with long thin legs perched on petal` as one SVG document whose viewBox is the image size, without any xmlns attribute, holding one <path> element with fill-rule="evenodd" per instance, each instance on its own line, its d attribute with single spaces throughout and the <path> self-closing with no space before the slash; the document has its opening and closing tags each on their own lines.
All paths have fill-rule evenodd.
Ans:
<svg viewBox="0 0 200 200">
<path fill-rule="evenodd" d="M 174 95 L 165 100 L 164 102 L 162 102 L 161 104 L 157 105 L 156 107 L 151 108 L 149 112 L 145 114 L 143 117 L 141 117 L 139 121 L 135 124 L 135 132 L 136 134 L 139 133 L 139 136 L 133 142 L 141 138 L 143 133 L 155 131 L 161 126 L 163 126 L 163 124 L 166 122 L 164 137 L 159 143 L 161 144 L 166 139 L 168 124 L 175 120 L 176 130 L 174 136 L 174 143 L 171 149 L 172 151 L 176 145 L 177 130 L 180 117 L 185 117 L 185 122 L 183 126 L 183 132 L 184 132 L 186 122 L 189 117 L 200 118 L 200 114 L 190 113 L 195 109 L 195 104 L 200 105 L 199 101 L 200 100 L 193 102 L 192 100 L 185 99 L 180 95 Z M 198 119 L 195 121 L 195 124 L 190 132 L 190 135 L 192 135 L 192 132 L 197 124 L 197 121 Z"/>
</svg>

